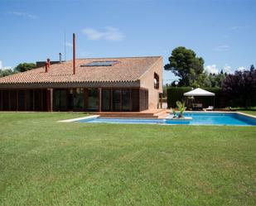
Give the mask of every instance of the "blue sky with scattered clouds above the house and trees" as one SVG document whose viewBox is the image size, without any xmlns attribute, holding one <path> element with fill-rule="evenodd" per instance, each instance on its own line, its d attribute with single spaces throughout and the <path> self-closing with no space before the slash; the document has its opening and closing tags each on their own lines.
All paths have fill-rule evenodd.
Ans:
<svg viewBox="0 0 256 206">
<path fill-rule="evenodd" d="M 195 50 L 205 70 L 256 65 L 256 0 L 0 0 L 0 69 L 22 62 Z M 176 80 L 164 71 L 165 83 Z"/>
</svg>

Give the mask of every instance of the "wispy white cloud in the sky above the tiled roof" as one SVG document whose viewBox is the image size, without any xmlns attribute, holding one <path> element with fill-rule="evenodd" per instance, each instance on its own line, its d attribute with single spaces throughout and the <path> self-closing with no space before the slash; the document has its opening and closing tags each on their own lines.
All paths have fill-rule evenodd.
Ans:
<svg viewBox="0 0 256 206">
<path fill-rule="evenodd" d="M 98 31 L 93 28 L 85 28 L 82 33 L 87 36 L 89 40 L 108 40 L 108 41 L 123 41 L 124 35 L 118 28 L 113 26 L 106 26 L 104 31 Z"/>
</svg>

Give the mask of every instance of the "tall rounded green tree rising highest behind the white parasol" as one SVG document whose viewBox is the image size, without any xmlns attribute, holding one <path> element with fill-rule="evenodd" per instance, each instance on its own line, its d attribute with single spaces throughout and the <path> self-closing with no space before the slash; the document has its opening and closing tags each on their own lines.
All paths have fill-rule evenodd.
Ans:
<svg viewBox="0 0 256 206">
<path fill-rule="evenodd" d="M 196 52 L 180 46 L 172 50 L 169 57 L 170 64 L 164 69 L 171 70 L 176 76 L 180 77 L 179 85 L 190 86 L 194 84 L 200 74 L 204 72 L 204 60 L 196 57 Z"/>
</svg>

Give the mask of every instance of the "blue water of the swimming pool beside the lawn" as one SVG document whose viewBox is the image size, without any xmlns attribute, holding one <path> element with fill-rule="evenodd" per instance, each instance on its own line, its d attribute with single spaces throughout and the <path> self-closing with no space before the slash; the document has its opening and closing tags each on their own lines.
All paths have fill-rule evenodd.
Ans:
<svg viewBox="0 0 256 206">
<path fill-rule="evenodd" d="M 240 113 L 185 113 L 189 120 L 142 119 L 142 118 L 103 118 L 80 120 L 89 123 L 123 123 L 123 124 L 163 124 L 163 125 L 227 125 L 256 126 L 256 118 Z"/>
</svg>

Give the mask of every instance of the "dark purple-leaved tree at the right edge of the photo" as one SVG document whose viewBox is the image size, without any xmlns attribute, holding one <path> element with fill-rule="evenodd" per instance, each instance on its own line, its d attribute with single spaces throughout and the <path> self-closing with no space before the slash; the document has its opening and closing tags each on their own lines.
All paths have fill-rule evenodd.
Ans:
<svg viewBox="0 0 256 206">
<path fill-rule="evenodd" d="M 229 98 L 239 99 L 239 107 L 255 106 L 252 100 L 256 99 L 256 69 L 251 67 L 249 70 L 228 74 L 222 89 Z"/>
</svg>

